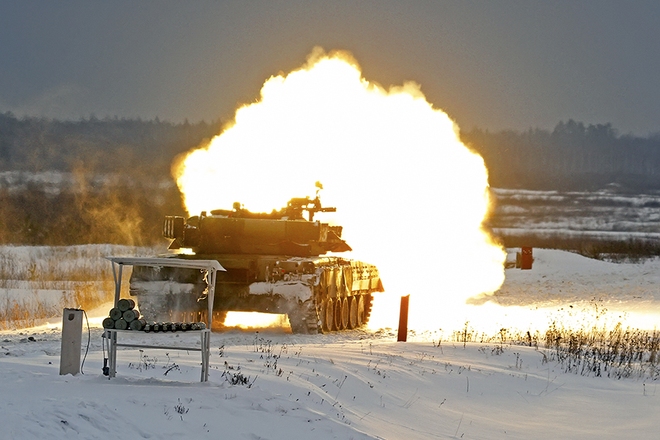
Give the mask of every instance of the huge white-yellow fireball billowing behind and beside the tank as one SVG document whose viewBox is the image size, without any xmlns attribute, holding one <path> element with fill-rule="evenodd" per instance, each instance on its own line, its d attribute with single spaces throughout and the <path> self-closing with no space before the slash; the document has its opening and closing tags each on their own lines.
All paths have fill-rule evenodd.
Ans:
<svg viewBox="0 0 660 440">
<path fill-rule="evenodd" d="M 347 258 L 378 266 L 370 327 L 396 327 L 411 294 L 409 328 L 463 324 L 468 297 L 504 280 L 504 251 L 482 229 L 489 206 L 482 158 L 415 83 L 389 90 L 361 75 L 345 52 L 315 49 L 306 65 L 273 76 L 232 125 L 175 167 L 191 214 L 230 208 L 270 212 L 313 196 L 322 221 L 344 226 Z"/>
</svg>

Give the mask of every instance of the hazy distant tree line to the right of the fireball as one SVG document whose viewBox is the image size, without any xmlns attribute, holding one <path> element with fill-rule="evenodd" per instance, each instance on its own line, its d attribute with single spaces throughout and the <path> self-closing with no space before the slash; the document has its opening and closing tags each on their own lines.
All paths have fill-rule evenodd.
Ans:
<svg viewBox="0 0 660 440">
<path fill-rule="evenodd" d="M 594 190 L 615 184 L 628 191 L 660 189 L 660 134 L 618 135 L 612 124 L 569 120 L 552 131 L 462 132 L 481 154 L 498 188 Z"/>
</svg>

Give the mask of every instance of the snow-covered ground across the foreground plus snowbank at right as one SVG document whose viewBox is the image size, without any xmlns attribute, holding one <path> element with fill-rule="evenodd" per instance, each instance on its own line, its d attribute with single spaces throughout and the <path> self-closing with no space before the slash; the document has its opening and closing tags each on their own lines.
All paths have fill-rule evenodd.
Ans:
<svg viewBox="0 0 660 440">
<path fill-rule="evenodd" d="M 660 262 L 613 264 L 537 249 L 534 257 L 530 271 L 507 270 L 490 300 L 471 301 L 474 321 L 486 310 L 504 324 L 520 315 L 527 318 L 517 326 L 542 327 L 553 319 L 547 313 L 564 319 L 600 307 L 599 317 L 650 311 L 649 329 L 658 322 Z M 199 382 L 199 353 L 148 348 L 120 348 L 117 377 L 108 379 L 99 324 L 106 312 L 88 311 L 89 351 L 76 376 L 59 375 L 60 319 L 0 332 L 0 438 L 655 439 L 660 432 L 655 376 L 594 377 L 569 371 L 543 344 L 464 344 L 446 331 L 396 342 L 387 329 L 232 330 L 212 334 L 208 383 Z M 83 332 L 84 355 L 86 325 Z M 196 341 L 183 333 L 124 338 Z"/>
</svg>

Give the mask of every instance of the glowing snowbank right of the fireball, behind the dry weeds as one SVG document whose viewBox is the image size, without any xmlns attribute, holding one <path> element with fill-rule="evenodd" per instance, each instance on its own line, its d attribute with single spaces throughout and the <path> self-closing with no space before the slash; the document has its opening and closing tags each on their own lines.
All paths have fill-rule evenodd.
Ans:
<svg viewBox="0 0 660 440">
<path fill-rule="evenodd" d="M 611 263 L 534 249 L 532 270 L 508 269 L 494 295 L 472 298 L 482 327 L 544 330 L 600 324 L 653 330 L 660 325 L 660 259 Z M 499 327 L 498 327 L 499 326 Z"/>
</svg>

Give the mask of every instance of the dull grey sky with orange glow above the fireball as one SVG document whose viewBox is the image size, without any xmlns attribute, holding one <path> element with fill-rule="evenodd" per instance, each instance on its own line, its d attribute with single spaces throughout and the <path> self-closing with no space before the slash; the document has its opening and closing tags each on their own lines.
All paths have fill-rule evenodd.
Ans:
<svg viewBox="0 0 660 440">
<path fill-rule="evenodd" d="M 0 0 L 0 112 L 228 119 L 317 45 L 464 129 L 660 132 L 658 1 Z"/>
</svg>

